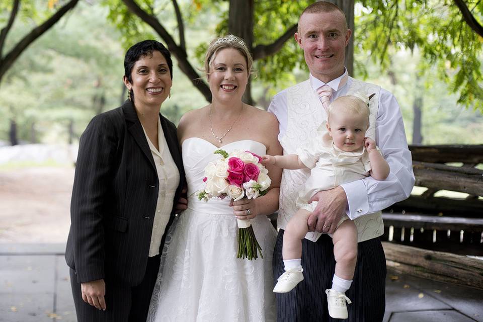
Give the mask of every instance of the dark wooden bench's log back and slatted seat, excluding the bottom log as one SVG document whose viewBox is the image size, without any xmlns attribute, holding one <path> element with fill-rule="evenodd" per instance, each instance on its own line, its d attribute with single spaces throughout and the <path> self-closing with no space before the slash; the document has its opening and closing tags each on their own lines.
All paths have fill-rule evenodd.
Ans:
<svg viewBox="0 0 483 322">
<path fill-rule="evenodd" d="M 483 256 L 483 145 L 410 146 L 419 196 L 383 210 L 383 240 Z M 438 197 L 440 190 L 466 198 Z"/>
</svg>

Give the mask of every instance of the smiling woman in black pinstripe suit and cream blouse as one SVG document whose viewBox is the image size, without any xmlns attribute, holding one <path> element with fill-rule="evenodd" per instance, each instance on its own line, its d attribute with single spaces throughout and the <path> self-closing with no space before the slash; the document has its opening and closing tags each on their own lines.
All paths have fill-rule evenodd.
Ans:
<svg viewBox="0 0 483 322">
<path fill-rule="evenodd" d="M 129 99 L 94 117 L 79 142 L 65 252 L 79 322 L 145 320 L 184 183 L 176 127 L 159 113 L 170 52 L 139 42 L 124 71 Z"/>
</svg>

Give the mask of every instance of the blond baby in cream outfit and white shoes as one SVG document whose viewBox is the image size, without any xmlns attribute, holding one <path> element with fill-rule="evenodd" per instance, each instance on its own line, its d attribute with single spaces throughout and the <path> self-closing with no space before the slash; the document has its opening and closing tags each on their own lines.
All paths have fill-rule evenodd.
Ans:
<svg viewBox="0 0 483 322">
<path fill-rule="evenodd" d="M 365 137 L 369 126 L 368 102 L 367 96 L 358 93 L 338 98 L 328 108 L 328 131 L 323 128 L 307 146 L 299 148 L 297 154 L 262 157 L 264 165 L 289 170 L 311 169 L 297 199 L 299 210 L 285 227 L 282 250 L 285 273 L 273 289 L 276 293 L 286 293 L 303 280 L 302 239 L 308 232 L 308 217 L 317 205 L 316 201 L 308 203 L 312 196 L 368 175 L 376 180 L 384 180 L 389 175 L 389 165 L 374 140 Z M 332 235 L 336 268 L 332 288 L 326 290 L 326 294 L 329 314 L 333 318 L 348 317 L 346 300 L 351 301 L 345 292 L 352 283 L 357 261 L 357 229 L 354 222 L 347 219 L 347 215 L 341 218 Z"/>
</svg>

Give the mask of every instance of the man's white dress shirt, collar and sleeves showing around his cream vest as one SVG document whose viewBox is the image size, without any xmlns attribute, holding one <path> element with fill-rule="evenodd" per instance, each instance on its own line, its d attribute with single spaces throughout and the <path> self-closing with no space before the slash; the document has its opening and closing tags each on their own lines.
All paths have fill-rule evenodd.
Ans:
<svg viewBox="0 0 483 322">
<path fill-rule="evenodd" d="M 333 101 L 346 95 L 351 86 L 352 79 L 349 77 L 347 84 L 337 90 L 345 73 L 327 84 L 310 74 L 310 84 L 314 91 L 320 86 L 329 85 L 334 89 Z M 279 140 L 287 129 L 287 108 L 286 90 L 283 90 L 274 96 L 268 108 L 280 123 Z M 347 195 L 347 215 L 352 220 L 408 198 L 415 182 L 403 117 L 395 97 L 384 89 L 380 92 L 376 116 L 376 144 L 389 164 L 390 173 L 387 179 L 382 181 L 366 177 L 341 185 Z"/>
</svg>

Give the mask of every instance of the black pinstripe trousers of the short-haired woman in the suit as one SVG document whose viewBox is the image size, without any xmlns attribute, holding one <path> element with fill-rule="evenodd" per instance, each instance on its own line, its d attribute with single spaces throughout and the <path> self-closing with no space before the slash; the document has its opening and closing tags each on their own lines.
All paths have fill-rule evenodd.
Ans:
<svg viewBox="0 0 483 322">
<path fill-rule="evenodd" d="M 141 284 L 130 287 L 106 278 L 106 310 L 99 310 L 84 302 L 81 283 L 77 283 L 75 271 L 70 269 L 70 285 L 78 322 L 138 322 L 145 321 L 152 290 L 159 271 L 160 257 L 147 260 L 146 273 Z"/>
</svg>

